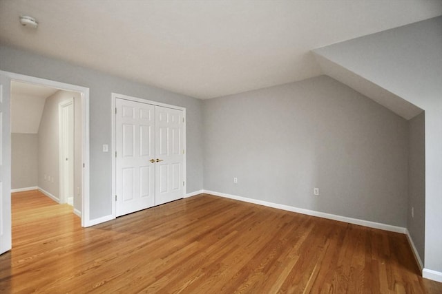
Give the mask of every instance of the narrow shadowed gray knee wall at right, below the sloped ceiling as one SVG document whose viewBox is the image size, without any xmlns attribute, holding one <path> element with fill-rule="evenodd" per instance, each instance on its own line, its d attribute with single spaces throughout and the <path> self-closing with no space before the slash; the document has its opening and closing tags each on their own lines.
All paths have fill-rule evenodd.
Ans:
<svg viewBox="0 0 442 294">
<path fill-rule="evenodd" d="M 425 253 L 425 112 L 409 127 L 407 229 L 421 259 Z M 412 216 L 414 208 L 414 217 Z"/>
</svg>

